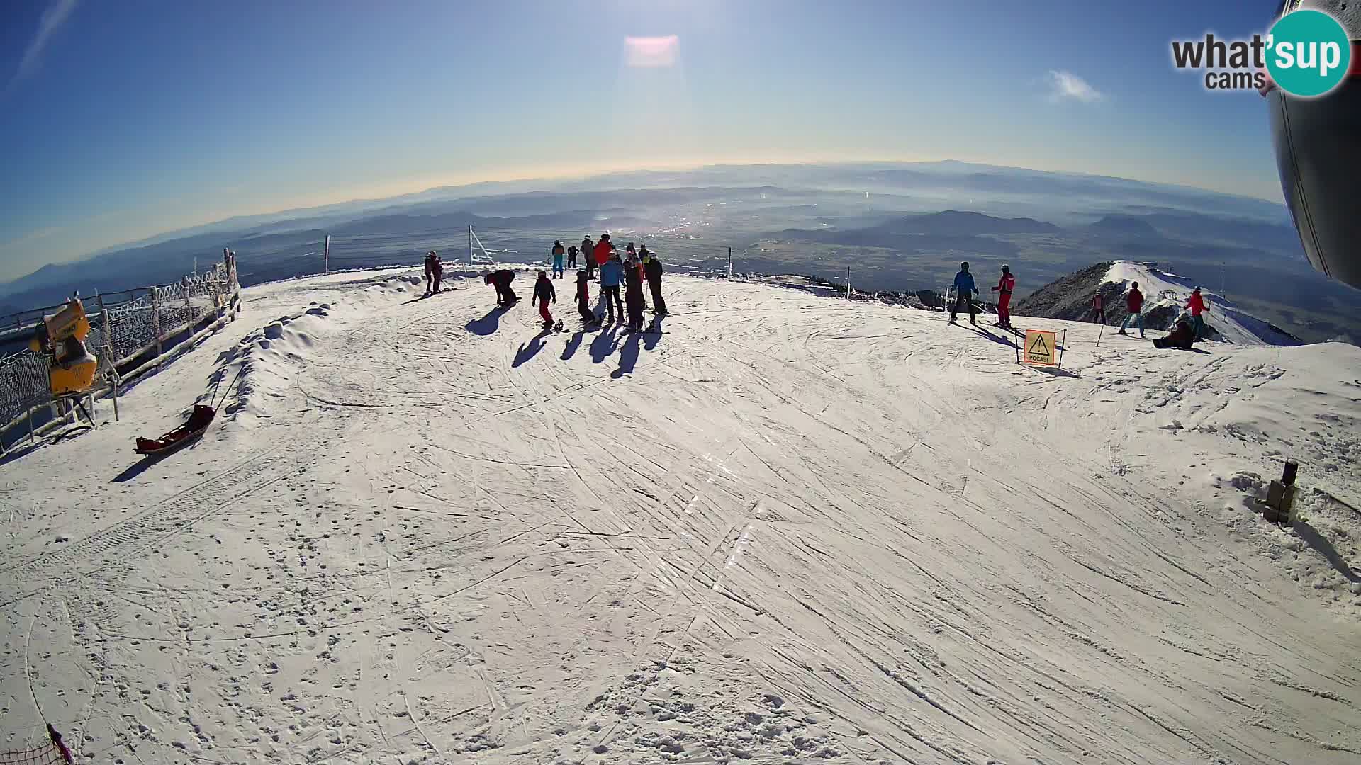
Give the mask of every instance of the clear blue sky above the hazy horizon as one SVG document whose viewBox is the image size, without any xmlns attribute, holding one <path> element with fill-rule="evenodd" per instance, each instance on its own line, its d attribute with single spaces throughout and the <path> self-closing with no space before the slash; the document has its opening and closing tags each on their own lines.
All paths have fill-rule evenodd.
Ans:
<svg viewBox="0 0 1361 765">
<path fill-rule="evenodd" d="M 625 167 L 970 159 L 1279 200 L 1262 99 L 1169 54 L 1274 5 L 14 1 L 0 280 L 231 215 Z M 626 37 L 672 34 L 674 65 L 626 65 Z"/>
</svg>

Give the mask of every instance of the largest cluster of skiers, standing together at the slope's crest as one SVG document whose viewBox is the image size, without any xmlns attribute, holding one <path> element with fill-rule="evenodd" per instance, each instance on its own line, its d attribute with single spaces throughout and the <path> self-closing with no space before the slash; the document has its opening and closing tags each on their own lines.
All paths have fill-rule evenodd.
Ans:
<svg viewBox="0 0 1361 765">
<path fill-rule="evenodd" d="M 577 268 L 577 257 L 584 261 L 584 267 L 577 268 L 576 298 L 577 312 L 581 314 L 585 328 L 597 327 L 606 320 L 612 324 L 618 316 L 619 321 L 627 319 L 626 333 L 641 332 L 642 314 L 648 310 L 648 302 L 642 294 L 644 282 L 652 291 L 652 313 L 656 316 L 667 314 L 667 302 L 661 295 L 661 260 L 656 253 L 648 250 L 648 245 L 634 249 L 633 242 L 629 242 L 626 257 L 621 257 L 614 242 L 610 241 L 610 234 L 600 234 L 599 242 L 592 242 L 591 237 L 583 238 L 580 249 L 576 245 L 563 248 L 561 240 L 554 241 L 551 256 L 553 278 L 540 268 L 534 283 L 534 297 L 529 299 L 529 305 L 539 305 L 539 316 L 543 319 L 544 329 L 561 328 L 562 323 L 554 323 L 553 313 L 548 310 L 548 304 L 558 302 L 558 291 L 553 286 L 553 279 L 561 279 L 566 268 Z M 591 308 L 589 282 L 596 279 L 596 271 L 600 274 L 600 298 L 607 310 L 603 316 L 597 316 Z M 495 287 L 497 305 L 510 306 L 519 299 L 514 290 L 510 289 L 514 271 L 508 268 L 487 271 L 483 272 L 483 279 Z M 621 286 L 623 289 L 622 299 Z"/>
</svg>

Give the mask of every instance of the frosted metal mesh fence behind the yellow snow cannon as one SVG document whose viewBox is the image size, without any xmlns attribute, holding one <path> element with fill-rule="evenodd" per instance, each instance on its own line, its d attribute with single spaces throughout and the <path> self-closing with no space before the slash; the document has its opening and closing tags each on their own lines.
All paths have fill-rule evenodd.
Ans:
<svg viewBox="0 0 1361 765">
<path fill-rule="evenodd" d="M 174 284 L 137 287 L 112 295 L 84 298 L 90 319 L 86 347 L 99 358 L 101 378 L 97 393 L 108 391 L 121 378 L 129 378 L 150 369 L 167 353 L 167 343 L 189 339 L 193 329 L 210 319 L 234 314 L 241 301 L 235 256 L 226 253 L 215 267 L 182 276 Z M 48 313 L 61 306 L 44 309 Z M 24 312 L 41 316 L 44 312 Z M 31 320 L 30 320 L 31 321 Z M 20 338 L 29 327 L 16 320 Z M 184 335 L 184 338 L 181 338 Z M 0 358 L 0 446 L 8 444 L 4 434 L 35 408 L 54 406 L 48 384 L 48 361 L 24 348 Z"/>
</svg>

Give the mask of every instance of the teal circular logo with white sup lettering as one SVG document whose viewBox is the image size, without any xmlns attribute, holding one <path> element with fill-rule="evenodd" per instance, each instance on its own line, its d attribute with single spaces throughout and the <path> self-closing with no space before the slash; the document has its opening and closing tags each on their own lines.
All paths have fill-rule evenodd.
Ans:
<svg viewBox="0 0 1361 765">
<path fill-rule="evenodd" d="M 1294 11 L 1281 16 L 1267 37 L 1267 71 L 1292 95 L 1328 93 L 1351 65 L 1347 30 L 1323 11 Z"/>
</svg>

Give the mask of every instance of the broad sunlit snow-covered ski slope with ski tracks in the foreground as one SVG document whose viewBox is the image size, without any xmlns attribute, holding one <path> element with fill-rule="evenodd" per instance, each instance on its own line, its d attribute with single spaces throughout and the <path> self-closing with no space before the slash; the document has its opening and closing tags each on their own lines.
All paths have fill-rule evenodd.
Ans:
<svg viewBox="0 0 1361 765">
<path fill-rule="evenodd" d="M 0 466 L 0 750 L 41 706 L 91 764 L 1361 761 L 1361 350 L 1017 317 L 1049 373 L 764 284 L 623 338 L 416 282 L 250 289 Z M 1283 455 L 1296 530 L 1247 505 Z"/>
</svg>

